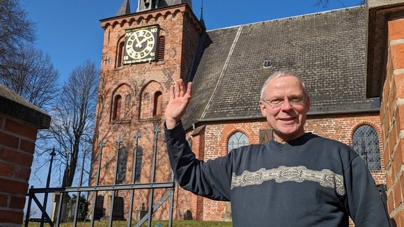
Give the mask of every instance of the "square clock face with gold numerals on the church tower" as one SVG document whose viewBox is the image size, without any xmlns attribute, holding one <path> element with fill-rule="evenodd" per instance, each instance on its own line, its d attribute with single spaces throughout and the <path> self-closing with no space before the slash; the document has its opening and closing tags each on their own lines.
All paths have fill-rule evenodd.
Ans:
<svg viewBox="0 0 404 227">
<path fill-rule="evenodd" d="M 123 63 L 154 61 L 157 44 L 157 26 L 126 31 Z"/>
</svg>

